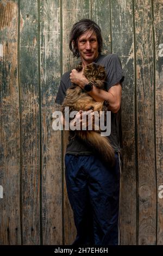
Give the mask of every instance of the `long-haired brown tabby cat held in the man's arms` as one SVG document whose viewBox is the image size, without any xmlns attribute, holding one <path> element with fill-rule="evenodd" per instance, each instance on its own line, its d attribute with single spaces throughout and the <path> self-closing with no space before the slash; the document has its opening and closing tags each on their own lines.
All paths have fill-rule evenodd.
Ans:
<svg viewBox="0 0 163 256">
<path fill-rule="evenodd" d="M 81 71 L 82 64 L 80 63 L 76 69 L 77 71 Z M 105 69 L 103 66 L 97 65 L 96 63 L 91 63 L 85 67 L 84 75 L 89 82 L 93 83 L 94 86 L 104 89 Z M 80 109 L 83 111 L 93 109 L 93 111 L 99 112 L 107 109 L 104 101 L 95 101 L 87 92 L 76 84 L 72 84 L 72 86 L 66 91 L 66 96 L 61 106 L 63 114 L 65 114 L 65 107 L 69 107 L 70 112 L 79 111 Z M 94 125 L 93 129 L 95 129 Z M 109 164 L 111 163 L 111 165 L 113 165 L 115 155 L 114 150 L 109 143 L 109 139 L 101 136 L 100 131 L 95 131 L 93 129 L 92 131 L 75 130 L 75 136 L 82 139 L 82 141 L 84 141 L 92 149 L 92 151 L 102 159 L 103 162 Z"/>
</svg>

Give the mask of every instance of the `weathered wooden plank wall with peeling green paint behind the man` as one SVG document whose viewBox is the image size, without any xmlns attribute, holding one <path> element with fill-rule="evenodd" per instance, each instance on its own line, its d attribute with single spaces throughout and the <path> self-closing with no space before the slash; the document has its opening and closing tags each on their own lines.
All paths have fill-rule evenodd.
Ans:
<svg viewBox="0 0 163 256">
<path fill-rule="evenodd" d="M 52 114 L 75 63 L 70 29 L 84 17 L 125 75 L 121 244 L 163 244 L 163 0 L 1 0 L 1 245 L 68 245 L 76 234 Z"/>
</svg>

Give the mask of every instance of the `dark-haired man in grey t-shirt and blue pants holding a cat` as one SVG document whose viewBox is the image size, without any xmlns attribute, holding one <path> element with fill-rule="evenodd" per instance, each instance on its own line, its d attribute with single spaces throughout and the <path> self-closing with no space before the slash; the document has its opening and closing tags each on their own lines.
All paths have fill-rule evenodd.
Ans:
<svg viewBox="0 0 163 256">
<path fill-rule="evenodd" d="M 120 244 L 120 107 L 122 95 L 122 68 L 116 54 L 104 56 L 101 28 L 88 19 L 73 25 L 70 34 L 70 50 L 80 57 L 83 69 L 95 62 L 105 66 L 107 92 L 91 86 L 76 69 L 61 77 L 55 102 L 61 104 L 66 89 L 75 83 L 84 88 L 96 101 L 108 101 L 111 111 L 111 134 L 115 151 L 115 166 L 106 167 L 79 138 L 70 131 L 65 154 L 65 176 L 68 198 L 74 214 L 77 237 L 73 245 L 118 245 Z M 76 115 L 83 117 L 82 111 Z M 78 116 L 78 118 L 77 118 Z M 82 118 L 81 118 L 82 120 Z"/>
</svg>

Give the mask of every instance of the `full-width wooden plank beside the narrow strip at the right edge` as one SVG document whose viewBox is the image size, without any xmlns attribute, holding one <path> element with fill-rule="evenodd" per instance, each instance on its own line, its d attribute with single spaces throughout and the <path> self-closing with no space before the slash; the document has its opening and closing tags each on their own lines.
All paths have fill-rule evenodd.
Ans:
<svg viewBox="0 0 163 256">
<path fill-rule="evenodd" d="M 151 1 L 135 1 L 139 245 L 156 243 L 154 73 Z"/>
</svg>

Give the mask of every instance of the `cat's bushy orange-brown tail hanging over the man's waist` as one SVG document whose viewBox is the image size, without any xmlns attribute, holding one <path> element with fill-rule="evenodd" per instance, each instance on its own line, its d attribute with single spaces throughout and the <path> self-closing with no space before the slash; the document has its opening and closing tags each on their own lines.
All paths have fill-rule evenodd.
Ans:
<svg viewBox="0 0 163 256">
<path fill-rule="evenodd" d="M 106 164 L 114 166 L 115 152 L 109 143 L 109 139 L 95 131 L 76 131 L 77 136 L 92 149 L 93 153 Z"/>
</svg>

